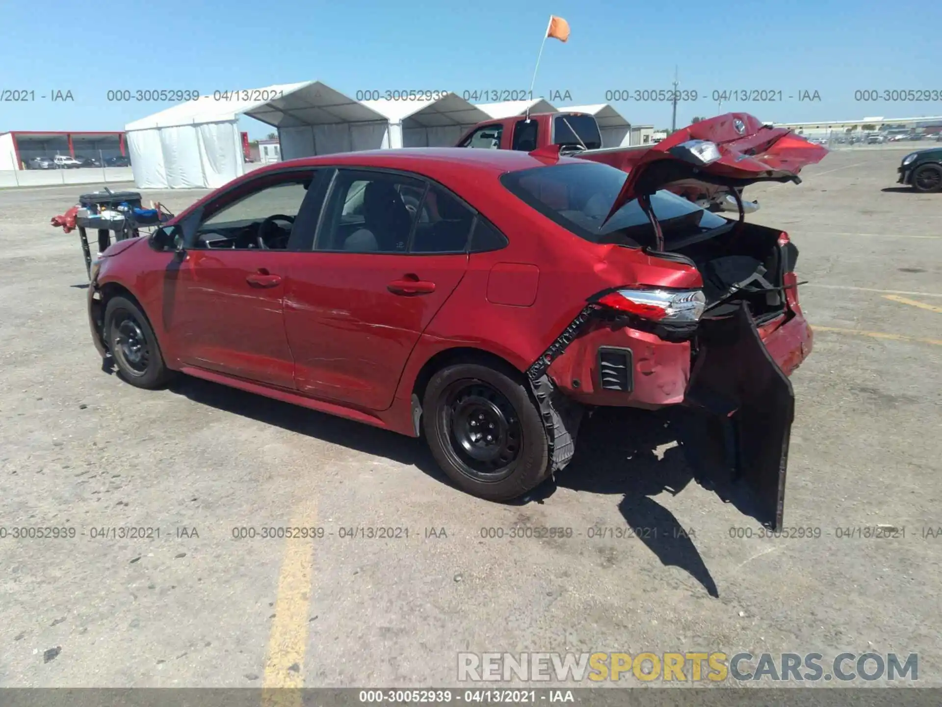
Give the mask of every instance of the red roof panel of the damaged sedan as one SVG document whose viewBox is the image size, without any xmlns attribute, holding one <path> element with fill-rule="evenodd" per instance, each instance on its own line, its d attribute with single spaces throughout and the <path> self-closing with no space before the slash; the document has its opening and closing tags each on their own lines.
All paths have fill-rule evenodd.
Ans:
<svg viewBox="0 0 942 707">
<path fill-rule="evenodd" d="M 317 167 L 326 165 L 344 167 L 384 167 L 387 169 L 401 169 L 420 173 L 442 173 L 449 171 L 466 172 L 479 171 L 481 173 L 502 174 L 527 170 L 533 167 L 544 167 L 547 163 L 580 163 L 585 160 L 571 157 L 560 157 L 558 160 L 547 161 L 528 153 L 516 150 L 483 150 L 470 147 L 417 147 L 398 148 L 395 150 L 365 150 L 363 152 L 338 153 L 335 155 L 319 155 L 315 157 L 300 157 L 276 162 L 275 169 L 292 167 Z M 264 168 L 263 168 L 264 169 Z"/>
</svg>

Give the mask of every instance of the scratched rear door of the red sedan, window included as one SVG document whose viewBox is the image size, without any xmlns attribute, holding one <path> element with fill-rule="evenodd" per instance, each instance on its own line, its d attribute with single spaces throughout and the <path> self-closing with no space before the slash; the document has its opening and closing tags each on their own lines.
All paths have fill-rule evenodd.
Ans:
<svg viewBox="0 0 942 707">
<path fill-rule="evenodd" d="M 474 219 L 417 175 L 338 170 L 285 293 L 300 392 L 388 408 L 415 342 L 464 276 Z"/>
</svg>

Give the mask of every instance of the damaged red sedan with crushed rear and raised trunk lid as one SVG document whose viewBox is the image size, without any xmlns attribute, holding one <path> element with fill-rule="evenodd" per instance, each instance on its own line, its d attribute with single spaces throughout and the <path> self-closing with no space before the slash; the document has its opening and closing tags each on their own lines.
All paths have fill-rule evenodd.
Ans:
<svg viewBox="0 0 942 707">
<path fill-rule="evenodd" d="M 263 168 L 102 254 L 92 335 L 135 386 L 183 372 L 425 436 L 495 501 L 563 469 L 594 406 L 687 405 L 732 426 L 779 527 L 788 374 L 811 350 L 797 249 L 665 187 L 797 181 L 820 154 L 713 137 L 678 131 L 628 174 L 559 146 Z"/>
</svg>

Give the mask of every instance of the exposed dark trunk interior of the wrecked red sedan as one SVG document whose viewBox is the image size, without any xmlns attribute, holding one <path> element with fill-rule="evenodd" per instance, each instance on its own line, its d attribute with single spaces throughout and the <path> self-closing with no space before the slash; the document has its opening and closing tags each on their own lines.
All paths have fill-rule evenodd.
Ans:
<svg viewBox="0 0 942 707">
<path fill-rule="evenodd" d="M 704 280 L 704 319 L 728 317 L 745 303 L 756 323 L 769 321 L 786 309 L 783 276 L 794 263 L 792 247 L 781 247 L 781 231 L 740 223 L 715 238 L 693 243 L 674 253 L 689 257 Z M 789 244 L 790 245 L 790 244 Z"/>
</svg>

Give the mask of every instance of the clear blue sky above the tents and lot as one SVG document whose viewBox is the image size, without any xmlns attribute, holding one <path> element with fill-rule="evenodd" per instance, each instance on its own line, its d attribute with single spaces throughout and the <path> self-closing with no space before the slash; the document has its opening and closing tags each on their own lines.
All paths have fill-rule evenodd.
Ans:
<svg viewBox="0 0 942 707">
<path fill-rule="evenodd" d="M 678 126 L 718 112 L 713 90 L 782 91 L 783 102 L 723 104 L 722 112 L 747 110 L 765 121 L 942 115 L 942 101 L 854 100 L 855 90 L 942 91 L 942 3 L 126 0 L 120 7 L 76 14 L 73 1 L 4 3 L 0 90 L 37 97 L 71 90 L 74 101 L 0 102 L 0 131 L 117 130 L 171 105 L 109 103 L 107 90 L 115 89 L 211 93 L 319 79 L 351 96 L 528 90 L 550 13 L 569 22 L 572 36 L 546 42 L 537 95 L 568 90 L 572 104 L 605 103 L 607 90 L 671 88 L 677 65 L 681 89 L 707 94 L 678 106 Z M 820 101 L 798 101 L 804 90 L 818 91 Z M 668 103 L 612 103 L 632 123 L 670 124 Z M 258 138 L 270 128 L 244 119 L 243 129 Z"/>
</svg>

